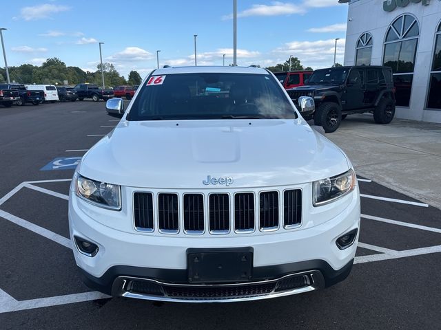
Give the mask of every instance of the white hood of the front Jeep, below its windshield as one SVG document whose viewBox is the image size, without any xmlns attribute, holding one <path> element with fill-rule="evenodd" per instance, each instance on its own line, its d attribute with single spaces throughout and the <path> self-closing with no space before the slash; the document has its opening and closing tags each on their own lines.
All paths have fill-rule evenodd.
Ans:
<svg viewBox="0 0 441 330">
<path fill-rule="evenodd" d="M 284 186 L 338 175 L 340 149 L 304 120 L 126 121 L 93 146 L 77 168 L 90 179 L 145 188 Z"/>
</svg>

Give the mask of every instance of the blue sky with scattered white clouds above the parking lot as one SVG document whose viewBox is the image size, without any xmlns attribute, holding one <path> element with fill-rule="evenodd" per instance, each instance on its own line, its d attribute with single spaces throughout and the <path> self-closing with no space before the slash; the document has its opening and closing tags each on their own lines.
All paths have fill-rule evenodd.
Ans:
<svg viewBox="0 0 441 330">
<path fill-rule="evenodd" d="M 11 1 L 6 1 L 11 4 Z M 14 2 L 14 1 L 13 1 Z M 338 0 L 237 0 L 238 65 L 267 67 L 290 55 L 318 69 L 345 52 L 347 4 Z M 1 6 L 8 65 L 41 65 L 58 57 L 68 66 L 96 71 L 99 42 L 103 62 L 127 77 L 141 76 L 159 65 L 233 62 L 233 0 L 21 0 Z M 0 65 L 4 66 L 0 57 Z"/>
</svg>

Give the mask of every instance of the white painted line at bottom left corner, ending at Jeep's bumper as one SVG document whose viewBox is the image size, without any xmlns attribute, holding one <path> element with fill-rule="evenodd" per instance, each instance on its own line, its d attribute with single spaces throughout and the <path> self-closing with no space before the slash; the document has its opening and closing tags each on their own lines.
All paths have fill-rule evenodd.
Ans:
<svg viewBox="0 0 441 330">
<path fill-rule="evenodd" d="M 54 296 L 48 298 L 37 298 L 30 300 L 15 300 L 6 292 L 11 299 L 6 300 L 4 303 L 1 300 L 2 290 L 0 289 L 0 313 L 6 313 L 8 311 L 23 311 L 25 309 L 34 309 L 40 307 L 58 306 L 72 303 L 81 303 L 83 301 L 111 298 L 101 292 L 83 292 L 81 294 L 66 294 L 65 296 Z"/>
</svg>

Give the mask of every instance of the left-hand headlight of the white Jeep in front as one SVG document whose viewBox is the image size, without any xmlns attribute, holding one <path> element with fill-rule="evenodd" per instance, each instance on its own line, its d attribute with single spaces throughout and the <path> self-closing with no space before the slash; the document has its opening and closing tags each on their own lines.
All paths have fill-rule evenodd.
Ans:
<svg viewBox="0 0 441 330">
<path fill-rule="evenodd" d="M 94 181 L 78 173 L 76 173 L 74 180 L 77 196 L 96 204 L 96 206 L 101 206 L 101 208 L 121 210 L 121 188 L 117 184 Z"/>
</svg>

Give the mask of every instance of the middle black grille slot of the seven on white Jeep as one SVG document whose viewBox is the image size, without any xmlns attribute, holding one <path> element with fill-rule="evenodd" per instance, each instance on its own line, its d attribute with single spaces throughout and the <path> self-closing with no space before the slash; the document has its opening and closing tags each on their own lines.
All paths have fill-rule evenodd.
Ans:
<svg viewBox="0 0 441 330">
<path fill-rule="evenodd" d="M 229 232 L 229 195 L 209 195 L 209 230 L 210 232 Z"/>
</svg>

